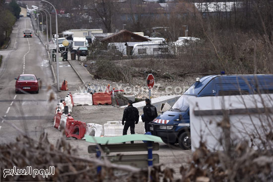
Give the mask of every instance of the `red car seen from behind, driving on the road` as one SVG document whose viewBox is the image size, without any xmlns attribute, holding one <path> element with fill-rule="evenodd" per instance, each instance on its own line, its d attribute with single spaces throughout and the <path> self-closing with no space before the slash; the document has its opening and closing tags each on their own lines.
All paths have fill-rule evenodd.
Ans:
<svg viewBox="0 0 273 182">
<path fill-rule="evenodd" d="M 15 78 L 15 93 L 20 91 L 35 91 L 39 93 L 39 83 L 37 77 L 31 74 L 20 75 L 17 79 Z"/>
</svg>

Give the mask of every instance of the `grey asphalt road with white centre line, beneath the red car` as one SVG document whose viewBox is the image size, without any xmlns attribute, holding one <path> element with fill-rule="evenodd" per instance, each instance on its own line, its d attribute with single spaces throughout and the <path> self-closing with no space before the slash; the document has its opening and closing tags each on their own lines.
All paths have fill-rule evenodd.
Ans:
<svg viewBox="0 0 273 182">
<path fill-rule="evenodd" d="M 47 91 L 47 88 L 53 83 L 53 76 L 47 52 L 35 35 L 32 38 L 23 37 L 25 28 L 32 29 L 29 17 L 17 20 L 8 49 L 0 51 L 4 56 L 0 68 L 0 143 L 15 141 L 19 133 L 16 127 L 35 138 L 52 126 L 56 102 L 48 101 L 51 91 Z M 35 74 L 41 78 L 38 94 L 15 93 L 14 78 L 20 74 Z"/>
</svg>

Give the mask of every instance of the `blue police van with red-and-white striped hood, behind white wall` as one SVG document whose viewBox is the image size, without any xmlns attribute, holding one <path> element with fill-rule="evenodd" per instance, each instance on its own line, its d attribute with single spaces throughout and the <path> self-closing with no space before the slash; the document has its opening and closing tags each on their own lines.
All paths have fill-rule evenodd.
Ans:
<svg viewBox="0 0 273 182">
<path fill-rule="evenodd" d="M 273 75 L 212 75 L 197 78 L 172 108 L 150 122 L 152 135 L 191 149 L 189 99 L 200 96 L 273 93 Z"/>
</svg>

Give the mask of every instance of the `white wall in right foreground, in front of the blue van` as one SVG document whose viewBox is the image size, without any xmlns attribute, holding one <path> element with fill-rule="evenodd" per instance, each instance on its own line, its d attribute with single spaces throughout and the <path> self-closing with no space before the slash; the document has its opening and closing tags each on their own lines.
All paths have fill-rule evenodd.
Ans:
<svg viewBox="0 0 273 182">
<path fill-rule="evenodd" d="M 220 112 L 223 108 L 231 112 L 229 114 L 231 141 L 235 141 L 236 143 L 236 141 L 242 139 L 248 140 L 251 146 L 249 134 L 253 134 L 256 136 L 253 142 L 254 148 L 257 149 L 257 147 L 261 147 L 262 144 L 257 138 L 260 135 L 265 139 L 265 135 L 269 131 L 265 132 L 263 128 L 271 130 L 272 128 L 269 125 L 273 124 L 273 120 L 267 117 L 270 115 L 273 118 L 273 114 L 261 112 L 264 105 L 273 107 L 273 94 L 193 97 L 190 100 L 192 151 L 195 151 L 196 148 L 199 147 L 201 135 L 208 149 L 223 150 L 223 147 L 218 142 L 218 139 L 223 137 L 223 130 L 217 126 L 217 123 L 223 123 L 221 122 L 223 115 L 208 115 L 208 113 L 198 115 L 200 111 L 209 112 L 214 110 L 215 113 L 215 110 Z M 252 114 L 232 113 L 244 111 L 245 108 L 254 108 L 254 110 L 259 108 L 260 110 L 258 113 Z M 261 127 L 262 124 L 264 127 Z"/>
</svg>

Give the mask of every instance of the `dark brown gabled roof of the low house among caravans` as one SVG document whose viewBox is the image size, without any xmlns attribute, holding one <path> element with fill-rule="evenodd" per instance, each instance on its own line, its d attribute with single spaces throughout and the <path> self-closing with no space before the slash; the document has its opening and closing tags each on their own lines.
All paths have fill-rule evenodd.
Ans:
<svg viewBox="0 0 273 182">
<path fill-rule="evenodd" d="M 117 33 L 114 33 L 102 39 L 101 41 L 110 43 L 110 42 L 144 42 L 148 40 L 149 40 L 148 38 L 143 37 L 141 35 L 137 35 L 128 30 L 121 30 Z"/>
</svg>

